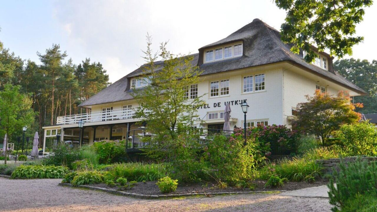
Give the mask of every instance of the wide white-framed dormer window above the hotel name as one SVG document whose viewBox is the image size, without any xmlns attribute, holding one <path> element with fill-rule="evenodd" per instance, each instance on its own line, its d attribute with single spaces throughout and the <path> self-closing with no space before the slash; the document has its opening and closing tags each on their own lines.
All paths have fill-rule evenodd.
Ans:
<svg viewBox="0 0 377 212">
<path fill-rule="evenodd" d="M 234 43 L 225 46 L 216 46 L 213 49 L 205 49 L 204 63 L 217 60 L 225 60 L 232 57 L 240 57 L 243 54 L 242 43 Z"/>
</svg>

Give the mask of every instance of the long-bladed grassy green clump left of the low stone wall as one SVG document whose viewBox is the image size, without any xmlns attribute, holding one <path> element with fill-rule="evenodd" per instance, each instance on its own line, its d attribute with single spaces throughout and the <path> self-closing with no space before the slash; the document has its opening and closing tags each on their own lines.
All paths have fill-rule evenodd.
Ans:
<svg viewBox="0 0 377 212">
<path fill-rule="evenodd" d="M 282 159 L 277 163 L 267 163 L 258 172 L 258 177 L 268 180 L 271 176 L 277 175 L 280 178 L 287 178 L 290 181 L 304 181 L 310 175 L 318 178 L 322 175 L 323 167 L 315 160 L 305 158 L 292 158 L 292 160 Z"/>
</svg>

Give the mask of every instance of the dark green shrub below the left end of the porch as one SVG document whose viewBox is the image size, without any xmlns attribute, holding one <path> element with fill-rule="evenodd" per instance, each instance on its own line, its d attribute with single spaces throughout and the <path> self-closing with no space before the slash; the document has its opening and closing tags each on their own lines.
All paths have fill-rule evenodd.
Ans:
<svg viewBox="0 0 377 212">
<path fill-rule="evenodd" d="M 79 160 L 78 150 L 68 144 L 61 144 L 52 149 L 51 156 L 44 163 L 47 165 L 67 166 L 72 169 L 72 163 L 77 160 Z"/>
</svg>

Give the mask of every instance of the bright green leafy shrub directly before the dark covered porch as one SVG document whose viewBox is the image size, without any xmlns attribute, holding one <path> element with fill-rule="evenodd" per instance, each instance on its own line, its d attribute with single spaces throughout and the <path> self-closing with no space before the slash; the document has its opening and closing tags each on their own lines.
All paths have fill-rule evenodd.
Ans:
<svg viewBox="0 0 377 212">
<path fill-rule="evenodd" d="M 100 163 L 107 164 L 118 162 L 126 158 L 125 145 L 124 140 L 104 140 L 93 143 L 92 148 L 97 153 Z"/>
</svg>

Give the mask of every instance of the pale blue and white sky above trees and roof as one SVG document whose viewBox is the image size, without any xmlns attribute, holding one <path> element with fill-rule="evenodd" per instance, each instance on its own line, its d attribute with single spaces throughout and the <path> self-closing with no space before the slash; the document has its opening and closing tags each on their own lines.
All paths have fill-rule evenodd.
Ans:
<svg viewBox="0 0 377 212">
<path fill-rule="evenodd" d="M 0 41 L 40 64 L 37 51 L 60 44 L 75 64 L 100 62 L 115 82 L 143 65 L 147 33 L 152 48 L 169 41 L 174 54 L 196 53 L 259 18 L 280 29 L 285 11 L 273 0 L 14 0 L 0 4 Z M 345 58 L 377 60 L 377 3 L 357 25 L 363 43 Z"/>
</svg>

